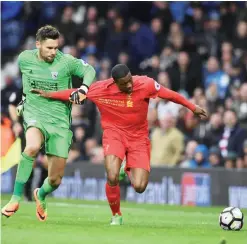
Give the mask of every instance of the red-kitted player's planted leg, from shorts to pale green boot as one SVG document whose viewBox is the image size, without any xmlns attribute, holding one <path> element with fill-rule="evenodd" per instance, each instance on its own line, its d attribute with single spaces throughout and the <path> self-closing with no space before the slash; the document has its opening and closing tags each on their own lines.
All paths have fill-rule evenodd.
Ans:
<svg viewBox="0 0 247 244">
<path fill-rule="evenodd" d="M 125 146 L 121 136 L 115 131 L 104 131 L 103 147 L 105 154 L 105 169 L 107 182 L 106 197 L 112 211 L 112 225 L 122 224 L 120 211 L 119 170 L 125 155 Z"/>
</svg>

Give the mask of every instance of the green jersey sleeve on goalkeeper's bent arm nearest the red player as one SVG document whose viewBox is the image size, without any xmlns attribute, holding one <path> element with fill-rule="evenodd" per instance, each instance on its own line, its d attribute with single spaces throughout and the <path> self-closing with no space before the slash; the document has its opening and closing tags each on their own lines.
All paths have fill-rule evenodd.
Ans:
<svg viewBox="0 0 247 244">
<path fill-rule="evenodd" d="M 74 58 L 69 54 L 67 54 L 66 57 L 68 58 L 70 75 L 83 78 L 83 83 L 90 86 L 93 83 L 96 74 L 94 68 L 82 59 Z"/>
</svg>

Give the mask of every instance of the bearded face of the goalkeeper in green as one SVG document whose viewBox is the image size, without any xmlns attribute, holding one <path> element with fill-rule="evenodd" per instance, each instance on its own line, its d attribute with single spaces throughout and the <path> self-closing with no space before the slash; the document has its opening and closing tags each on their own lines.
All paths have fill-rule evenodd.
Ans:
<svg viewBox="0 0 247 244">
<path fill-rule="evenodd" d="M 58 39 L 46 39 L 44 41 L 37 41 L 36 47 L 39 49 L 39 56 L 48 63 L 52 63 L 58 49 Z"/>
</svg>

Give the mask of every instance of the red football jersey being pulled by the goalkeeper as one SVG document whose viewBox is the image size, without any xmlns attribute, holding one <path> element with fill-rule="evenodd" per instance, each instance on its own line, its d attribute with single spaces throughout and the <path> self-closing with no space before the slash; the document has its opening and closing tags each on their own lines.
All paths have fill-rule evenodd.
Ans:
<svg viewBox="0 0 247 244">
<path fill-rule="evenodd" d="M 155 98 L 160 85 L 147 76 L 133 76 L 131 94 L 121 92 L 113 79 L 95 82 L 87 93 L 100 113 L 102 128 L 120 130 L 129 138 L 148 135 L 149 98 Z"/>
</svg>

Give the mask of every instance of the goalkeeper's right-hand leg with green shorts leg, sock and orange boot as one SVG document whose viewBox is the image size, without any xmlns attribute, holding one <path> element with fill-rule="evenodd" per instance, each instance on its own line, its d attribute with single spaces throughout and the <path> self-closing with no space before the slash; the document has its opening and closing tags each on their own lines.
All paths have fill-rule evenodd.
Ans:
<svg viewBox="0 0 247 244">
<path fill-rule="evenodd" d="M 54 125 L 44 125 L 48 133 L 45 150 L 48 160 L 48 177 L 41 188 L 34 190 L 36 201 L 36 216 L 40 221 L 47 219 L 46 196 L 55 191 L 61 184 L 66 159 L 72 139 L 69 129 L 59 128 Z"/>
</svg>

